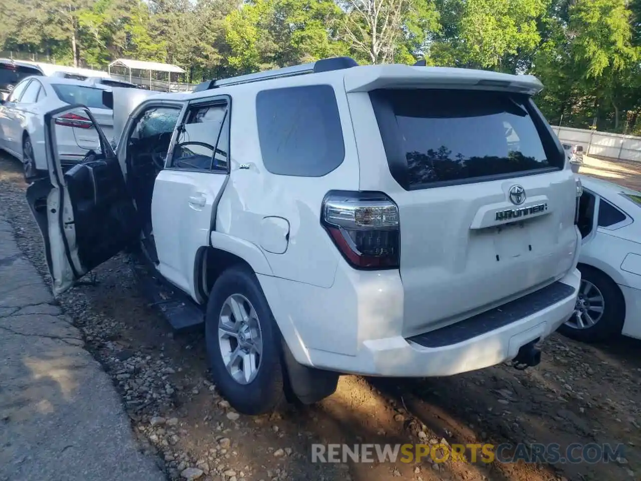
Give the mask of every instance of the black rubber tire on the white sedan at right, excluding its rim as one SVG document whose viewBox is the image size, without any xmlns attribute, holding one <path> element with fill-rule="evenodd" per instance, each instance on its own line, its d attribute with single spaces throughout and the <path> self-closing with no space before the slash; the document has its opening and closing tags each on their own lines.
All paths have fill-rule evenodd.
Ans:
<svg viewBox="0 0 641 481">
<path fill-rule="evenodd" d="M 558 332 L 581 342 L 601 342 L 612 339 L 621 333 L 623 322 L 626 317 L 626 303 L 619 286 L 606 274 L 594 267 L 579 264 L 581 279 L 592 283 L 603 296 L 603 314 L 593 325 L 587 328 L 578 329 L 569 323 L 574 323 L 570 318 L 568 323 L 558 328 Z M 581 287 L 583 287 L 583 282 Z M 579 294 L 580 296 L 581 294 Z M 579 303 L 579 300 L 578 300 Z M 572 316 L 574 316 L 573 314 Z"/>
</svg>

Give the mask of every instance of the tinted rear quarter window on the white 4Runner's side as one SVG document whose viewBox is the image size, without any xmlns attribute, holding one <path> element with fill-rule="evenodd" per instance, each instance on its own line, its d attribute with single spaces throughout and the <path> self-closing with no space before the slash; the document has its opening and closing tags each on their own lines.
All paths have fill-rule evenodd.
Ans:
<svg viewBox="0 0 641 481">
<path fill-rule="evenodd" d="M 342 164 L 345 144 L 331 86 L 258 92 L 256 117 L 263 164 L 272 174 L 320 177 Z"/>
</svg>

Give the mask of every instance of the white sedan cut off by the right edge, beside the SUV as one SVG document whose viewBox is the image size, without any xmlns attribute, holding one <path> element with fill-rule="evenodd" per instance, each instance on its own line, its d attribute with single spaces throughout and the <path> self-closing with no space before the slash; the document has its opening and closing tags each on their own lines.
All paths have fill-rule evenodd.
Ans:
<svg viewBox="0 0 641 481">
<path fill-rule="evenodd" d="M 583 175 L 581 288 L 559 332 L 578 341 L 641 339 L 641 192 Z"/>
</svg>

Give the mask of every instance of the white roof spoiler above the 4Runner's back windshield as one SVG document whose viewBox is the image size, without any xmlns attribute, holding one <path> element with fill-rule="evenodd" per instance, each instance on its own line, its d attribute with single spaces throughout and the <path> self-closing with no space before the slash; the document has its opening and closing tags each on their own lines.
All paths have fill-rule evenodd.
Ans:
<svg viewBox="0 0 641 481">
<path fill-rule="evenodd" d="M 531 75 L 449 67 L 367 65 L 345 72 L 347 92 L 369 92 L 384 88 L 504 90 L 533 96 L 543 89 L 543 84 Z"/>
</svg>

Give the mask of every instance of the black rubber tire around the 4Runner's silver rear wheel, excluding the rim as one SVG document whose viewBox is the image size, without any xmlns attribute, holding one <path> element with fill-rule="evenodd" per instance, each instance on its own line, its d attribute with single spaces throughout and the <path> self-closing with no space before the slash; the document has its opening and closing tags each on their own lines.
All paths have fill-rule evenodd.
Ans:
<svg viewBox="0 0 641 481">
<path fill-rule="evenodd" d="M 240 294 L 251 303 L 262 335 L 262 356 L 255 378 L 240 384 L 228 372 L 219 341 L 219 316 L 229 296 Z M 242 414 L 272 412 L 285 396 L 281 364 L 280 332 L 256 275 L 249 267 L 238 265 L 224 271 L 213 285 L 207 304 L 205 339 L 213 381 L 222 396 Z"/>
</svg>

